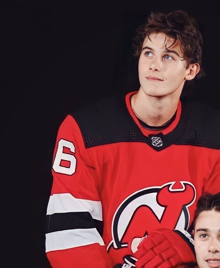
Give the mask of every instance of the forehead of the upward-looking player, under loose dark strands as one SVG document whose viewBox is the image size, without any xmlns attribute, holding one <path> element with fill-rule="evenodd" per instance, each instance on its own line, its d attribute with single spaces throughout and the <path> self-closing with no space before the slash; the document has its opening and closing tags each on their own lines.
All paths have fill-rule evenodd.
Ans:
<svg viewBox="0 0 220 268">
<path fill-rule="evenodd" d="M 156 47 L 160 49 L 164 49 L 165 46 L 169 49 L 175 49 L 176 51 L 180 52 L 181 46 L 178 40 L 172 45 L 174 39 L 172 37 L 166 36 L 165 33 L 151 33 L 148 36 L 145 37 L 143 41 L 143 46 L 149 46 L 149 47 Z M 169 47 L 172 45 L 171 47 Z"/>
</svg>

